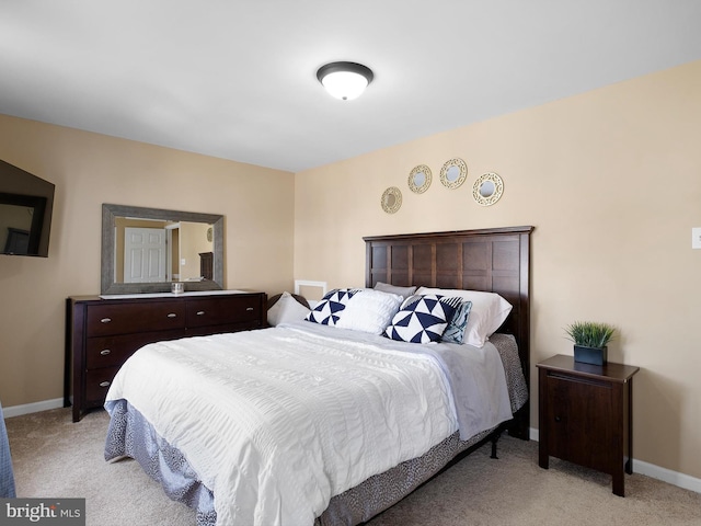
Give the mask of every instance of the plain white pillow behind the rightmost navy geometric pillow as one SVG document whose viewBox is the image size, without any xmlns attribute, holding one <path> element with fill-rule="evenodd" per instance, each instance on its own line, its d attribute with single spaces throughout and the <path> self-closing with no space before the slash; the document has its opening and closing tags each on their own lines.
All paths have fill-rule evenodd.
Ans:
<svg viewBox="0 0 701 526">
<path fill-rule="evenodd" d="M 484 342 L 494 334 L 494 331 L 502 327 L 502 323 L 504 323 L 504 320 L 506 320 L 513 308 L 512 304 L 496 293 L 420 287 L 416 294 L 457 296 L 464 300 L 472 301 L 463 343 L 474 345 L 475 347 L 484 345 Z"/>
</svg>

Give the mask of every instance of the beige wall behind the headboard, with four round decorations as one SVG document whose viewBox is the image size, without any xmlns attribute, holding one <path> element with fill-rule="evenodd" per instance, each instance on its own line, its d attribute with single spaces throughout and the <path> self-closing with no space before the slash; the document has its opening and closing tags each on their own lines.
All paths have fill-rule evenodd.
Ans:
<svg viewBox="0 0 701 526">
<path fill-rule="evenodd" d="M 430 108 L 426 108 L 430 111 Z M 368 123 L 372 126 L 374 123 Z M 295 277 L 364 284 L 363 236 L 533 225 L 532 363 L 572 354 L 574 320 L 620 328 L 610 359 L 634 379 L 634 456 L 701 477 L 701 61 L 296 175 Z M 460 157 L 467 183 L 441 186 Z M 434 182 L 406 184 L 416 164 Z M 471 183 L 497 172 L 495 206 Z M 394 215 L 380 208 L 402 191 Z M 533 427 L 538 426 L 531 368 Z"/>
</svg>

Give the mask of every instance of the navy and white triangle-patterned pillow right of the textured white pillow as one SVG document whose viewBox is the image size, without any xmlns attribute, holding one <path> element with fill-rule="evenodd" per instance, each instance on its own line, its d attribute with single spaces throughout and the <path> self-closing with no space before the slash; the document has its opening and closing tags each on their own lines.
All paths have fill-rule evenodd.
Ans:
<svg viewBox="0 0 701 526">
<path fill-rule="evenodd" d="M 412 296 L 394 315 L 384 334 L 403 342 L 437 342 L 461 301 L 460 298 L 446 298 L 435 294 Z"/>
</svg>

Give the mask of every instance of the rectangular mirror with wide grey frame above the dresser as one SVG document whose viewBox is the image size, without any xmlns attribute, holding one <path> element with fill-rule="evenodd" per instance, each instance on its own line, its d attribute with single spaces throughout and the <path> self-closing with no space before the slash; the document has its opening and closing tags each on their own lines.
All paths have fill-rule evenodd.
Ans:
<svg viewBox="0 0 701 526">
<path fill-rule="evenodd" d="M 223 216 L 102 205 L 101 294 L 223 288 Z"/>
</svg>

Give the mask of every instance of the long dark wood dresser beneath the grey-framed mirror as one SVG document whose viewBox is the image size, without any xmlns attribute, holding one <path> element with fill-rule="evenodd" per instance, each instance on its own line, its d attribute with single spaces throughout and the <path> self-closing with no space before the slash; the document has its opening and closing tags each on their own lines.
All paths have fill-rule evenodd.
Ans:
<svg viewBox="0 0 701 526">
<path fill-rule="evenodd" d="M 266 327 L 265 293 L 185 293 L 66 300 L 64 404 L 73 422 L 104 404 L 124 362 L 147 343 Z"/>
</svg>

